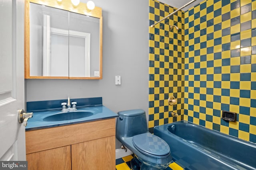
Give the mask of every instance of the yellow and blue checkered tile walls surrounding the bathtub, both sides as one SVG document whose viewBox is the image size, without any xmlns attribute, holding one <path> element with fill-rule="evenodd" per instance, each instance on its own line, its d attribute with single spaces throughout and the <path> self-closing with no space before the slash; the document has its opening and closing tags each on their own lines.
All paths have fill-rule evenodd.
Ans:
<svg viewBox="0 0 256 170">
<path fill-rule="evenodd" d="M 150 25 L 175 10 L 149 2 Z M 149 28 L 149 35 L 149 128 L 184 114 L 256 143 L 256 0 L 205 0 Z M 173 108 L 170 95 L 179 99 Z M 178 119 L 169 117 L 172 110 Z M 237 121 L 222 120 L 222 110 L 238 113 Z"/>
</svg>

